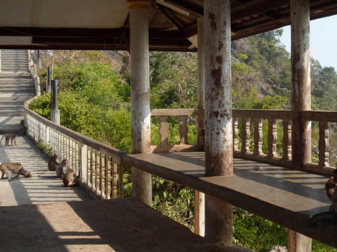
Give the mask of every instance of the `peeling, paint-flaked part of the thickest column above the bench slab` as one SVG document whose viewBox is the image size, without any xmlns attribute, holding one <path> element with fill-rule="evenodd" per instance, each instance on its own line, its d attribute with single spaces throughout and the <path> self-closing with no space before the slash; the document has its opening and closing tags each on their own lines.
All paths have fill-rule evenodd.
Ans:
<svg viewBox="0 0 337 252">
<path fill-rule="evenodd" d="M 205 24 L 205 173 L 233 172 L 229 0 L 208 1 Z"/>
</svg>

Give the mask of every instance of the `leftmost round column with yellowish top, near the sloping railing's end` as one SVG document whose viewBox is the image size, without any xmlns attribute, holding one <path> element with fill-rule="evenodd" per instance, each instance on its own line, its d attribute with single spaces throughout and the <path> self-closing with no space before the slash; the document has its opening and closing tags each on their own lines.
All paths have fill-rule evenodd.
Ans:
<svg viewBox="0 0 337 252">
<path fill-rule="evenodd" d="M 149 0 L 128 0 L 131 56 L 132 153 L 151 152 Z M 132 168 L 132 197 L 152 206 L 151 174 Z"/>
</svg>

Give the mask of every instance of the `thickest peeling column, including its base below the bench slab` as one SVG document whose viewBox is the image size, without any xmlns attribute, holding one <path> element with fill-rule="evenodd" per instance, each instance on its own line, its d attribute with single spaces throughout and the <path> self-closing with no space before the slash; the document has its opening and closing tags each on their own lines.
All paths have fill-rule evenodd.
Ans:
<svg viewBox="0 0 337 252">
<path fill-rule="evenodd" d="M 230 1 L 204 2 L 205 28 L 205 173 L 233 173 L 230 72 Z M 232 206 L 205 195 L 205 238 L 232 245 Z"/>
</svg>

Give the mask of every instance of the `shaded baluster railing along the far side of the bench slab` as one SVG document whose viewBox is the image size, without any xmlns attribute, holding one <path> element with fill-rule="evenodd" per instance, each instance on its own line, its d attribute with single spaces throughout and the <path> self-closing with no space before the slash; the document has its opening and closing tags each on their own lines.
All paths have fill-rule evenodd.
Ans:
<svg viewBox="0 0 337 252">
<path fill-rule="evenodd" d="M 268 164 L 291 167 L 291 126 L 292 112 L 289 110 L 241 110 L 233 109 L 233 155 L 234 157 L 255 160 Z M 198 146 L 190 145 L 187 139 L 187 117 L 200 115 L 199 109 L 154 109 L 151 117 L 160 119 L 161 143 L 152 146 L 154 152 L 195 150 Z M 180 122 L 180 144 L 169 145 L 169 116 L 177 116 Z M 335 169 L 328 163 L 329 159 L 329 123 L 337 122 L 337 112 L 304 111 L 303 120 L 319 123 L 319 162 L 307 163 L 305 170 L 331 175 Z M 238 125 L 241 127 L 238 127 Z M 263 132 L 263 125 L 267 131 Z M 282 149 L 277 153 L 277 127 L 281 127 Z M 241 128 L 241 129 L 240 129 Z M 239 130 L 240 129 L 240 130 Z M 240 132 L 239 132 L 240 131 Z M 251 137 L 252 136 L 252 137 Z M 262 151 L 263 138 L 267 138 L 267 151 Z"/>
</svg>

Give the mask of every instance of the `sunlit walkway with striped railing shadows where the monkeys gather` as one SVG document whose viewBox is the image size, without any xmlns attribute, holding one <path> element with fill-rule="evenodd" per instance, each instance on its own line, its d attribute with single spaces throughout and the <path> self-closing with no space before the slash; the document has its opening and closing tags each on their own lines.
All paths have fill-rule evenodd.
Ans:
<svg viewBox="0 0 337 252">
<path fill-rule="evenodd" d="M 19 176 L 11 181 L 0 179 L 0 206 L 91 200 L 79 187 L 64 188 L 60 178 L 38 177 L 39 173 L 48 170 L 48 158 L 26 136 L 18 135 L 16 144 L 4 147 L 2 140 L 0 163 L 19 162 L 33 173 L 33 177 Z M 55 175 L 55 172 L 49 174 Z"/>
</svg>

